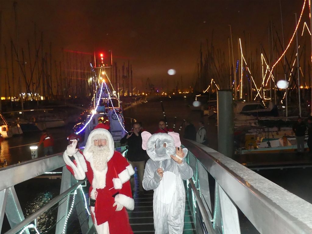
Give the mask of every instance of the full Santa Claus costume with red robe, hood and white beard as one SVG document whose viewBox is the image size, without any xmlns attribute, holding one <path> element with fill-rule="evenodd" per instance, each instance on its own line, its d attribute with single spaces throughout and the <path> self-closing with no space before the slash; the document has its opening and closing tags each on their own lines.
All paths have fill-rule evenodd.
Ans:
<svg viewBox="0 0 312 234">
<path fill-rule="evenodd" d="M 77 180 L 90 182 L 90 210 L 98 234 L 133 233 L 129 224 L 129 210 L 134 209 L 130 176 L 134 170 L 127 160 L 114 151 L 114 141 L 107 125 L 98 124 L 90 132 L 85 149 L 75 150 L 75 142 L 63 154 L 66 167 Z M 106 140 L 95 146 L 94 141 Z M 71 155 L 72 154 L 72 155 Z"/>
</svg>

